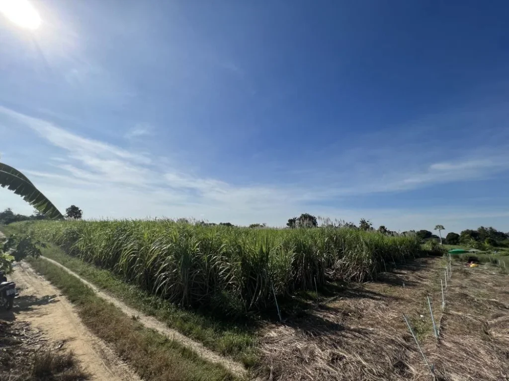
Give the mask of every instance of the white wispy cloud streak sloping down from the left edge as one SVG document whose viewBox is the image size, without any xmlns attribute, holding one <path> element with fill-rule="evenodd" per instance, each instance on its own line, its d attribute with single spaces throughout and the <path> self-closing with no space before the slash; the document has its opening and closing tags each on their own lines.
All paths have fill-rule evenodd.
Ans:
<svg viewBox="0 0 509 381">
<path fill-rule="evenodd" d="M 111 192 L 116 193 L 119 200 L 124 197 L 127 187 L 131 196 L 133 192 L 138 194 L 138 202 L 147 202 L 147 197 L 153 202 L 156 195 L 161 204 L 163 200 L 170 203 L 178 200 L 182 207 L 189 204 L 215 205 L 215 208 L 234 207 L 239 211 L 270 208 L 287 196 L 281 189 L 239 187 L 216 179 L 185 174 L 180 168 L 158 167 L 147 155 L 72 134 L 45 120 L 2 107 L 0 113 L 21 122 L 64 151 L 66 163 L 59 160 L 55 164 L 54 160 L 50 160 L 56 173 L 29 171 L 41 180 L 50 180 L 51 184 L 60 183 L 66 188 L 70 184 L 101 186 L 101 197 L 104 197 L 106 189 L 116 187 Z M 123 209 L 127 211 L 130 206 L 125 205 Z"/>
</svg>

